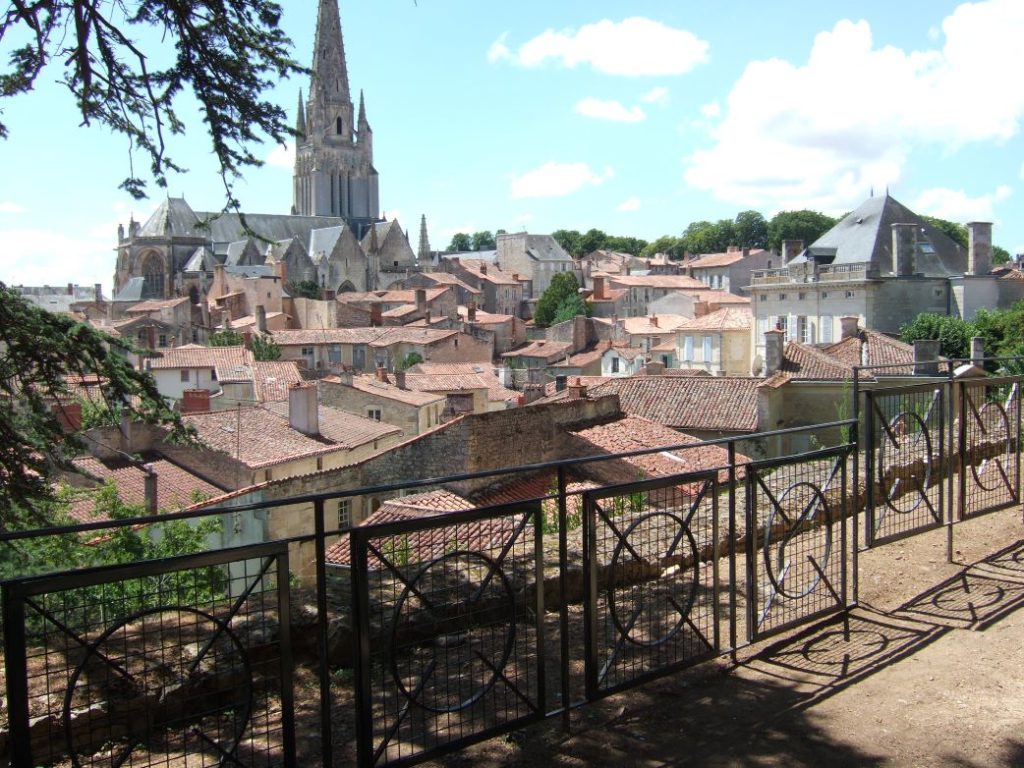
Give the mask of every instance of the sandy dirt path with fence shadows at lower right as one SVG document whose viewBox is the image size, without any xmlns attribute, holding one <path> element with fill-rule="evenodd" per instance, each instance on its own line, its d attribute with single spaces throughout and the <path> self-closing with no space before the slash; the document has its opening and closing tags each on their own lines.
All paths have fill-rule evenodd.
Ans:
<svg viewBox="0 0 1024 768">
<path fill-rule="evenodd" d="M 1020 509 L 861 554 L 842 622 L 492 739 L 447 766 L 1024 766 Z"/>
</svg>

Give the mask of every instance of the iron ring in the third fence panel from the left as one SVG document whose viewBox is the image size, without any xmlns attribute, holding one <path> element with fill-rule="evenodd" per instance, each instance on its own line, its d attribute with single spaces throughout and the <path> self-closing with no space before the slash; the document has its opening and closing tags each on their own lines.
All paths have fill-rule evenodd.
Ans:
<svg viewBox="0 0 1024 768">
<path fill-rule="evenodd" d="M 659 538 L 653 535 L 645 536 L 645 530 L 656 532 L 658 527 L 651 525 L 655 518 L 667 518 L 663 523 L 666 529 L 672 531 L 672 540 L 677 540 L 676 531 L 682 531 L 686 542 L 688 552 L 682 555 L 673 552 L 662 552 L 653 557 L 647 557 L 646 552 L 651 549 L 651 545 L 660 544 Z M 625 555 L 632 554 L 634 559 L 625 562 Z M 656 563 L 654 567 L 658 569 L 658 579 L 651 584 L 650 575 L 643 570 L 650 567 L 651 562 Z M 668 567 L 663 563 L 671 561 Z M 686 563 L 690 563 L 688 566 Z M 687 616 L 693 608 L 693 603 L 697 598 L 697 586 L 699 584 L 700 558 L 697 557 L 697 543 L 693 539 L 693 534 L 689 526 L 681 517 L 672 512 L 651 512 L 635 520 L 622 536 L 615 545 L 611 555 L 611 563 L 608 568 L 608 611 L 611 614 L 611 622 L 620 635 L 630 643 L 642 647 L 652 648 L 672 640 L 683 626 Z M 636 571 L 636 572 L 634 572 Z M 686 575 L 689 573 L 689 584 Z M 623 577 L 626 577 L 625 579 Z M 618 585 L 626 583 L 628 592 L 620 596 Z M 647 593 L 657 590 L 668 590 L 667 594 L 655 597 L 653 600 L 646 599 Z M 632 603 L 632 610 L 627 614 L 629 617 L 624 621 L 625 606 L 620 606 L 620 601 L 624 603 L 627 599 Z M 681 599 L 677 599 L 681 598 Z M 647 613 L 645 616 L 644 614 Z M 660 634 L 654 637 L 643 637 L 639 633 L 647 633 L 652 628 L 663 628 Z M 639 629 L 638 629 L 639 628 Z M 635 634 L 636 633 L 636 634 Z"/>
</svg>

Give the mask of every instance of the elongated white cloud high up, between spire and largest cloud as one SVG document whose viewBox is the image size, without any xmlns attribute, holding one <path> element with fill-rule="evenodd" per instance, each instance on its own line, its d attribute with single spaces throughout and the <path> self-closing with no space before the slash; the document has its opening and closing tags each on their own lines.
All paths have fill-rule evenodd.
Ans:
<svg viewBox="0 0 1024 768">
<path fill-rule="evenodd" d="M 508 33 L 487 50 L 487 60 L 508 60 L 519 67 L 540 67 L 549 58 L 573 69 L 584 63 L 605 75 L 683 75 L 708 60 L 707 41 L 687 30 L 642 16 L 607 18 L 579 30 L 545 30 L 513 51 Z"/>
</svg>

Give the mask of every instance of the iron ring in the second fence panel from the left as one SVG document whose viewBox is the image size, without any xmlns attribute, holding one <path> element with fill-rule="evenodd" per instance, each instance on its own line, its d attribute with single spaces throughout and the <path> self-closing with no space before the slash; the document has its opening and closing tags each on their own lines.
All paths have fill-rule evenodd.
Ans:
<svg viewBox="0 0 1024 768">
<path fill-rule="evenodd" d="M 505 677 L 515 647 L 515 593 L 499 563 L 456 550 L 425 563 L 395 602 L 391 677 L 436 715 L 479 701 Z"/>
</svg>

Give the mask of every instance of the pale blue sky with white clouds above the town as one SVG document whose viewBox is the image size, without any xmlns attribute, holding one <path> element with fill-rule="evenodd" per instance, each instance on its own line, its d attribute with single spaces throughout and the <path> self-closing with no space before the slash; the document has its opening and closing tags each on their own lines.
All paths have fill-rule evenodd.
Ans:
<svg viewBox="0 0 1024 768">
<path fill-rule="evenodd" d="M 283 6 L 305 62 L 315 5 Z M 421 214 L 435 249 L 498 228 L 651 240 L 750 208 L 838 214 L 888 187 L 1024 252 L 1020 0 L 342 0 L 341 19 L 381 206 L 414 243 Z M 56 79 L 3 105 L 0 280 L 109 290 L 118 223 L 159 197 L 118 190 L 126 141 L 79 127 Z M 294 114 L 299 88 L 272 97 Z M 189 172 L 168 191 L 219 209 L 198 118 L 172 148 Z M 244 209 L 288 212 L 291 150 L 257 154 Z"/>
</svg>

